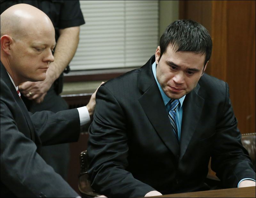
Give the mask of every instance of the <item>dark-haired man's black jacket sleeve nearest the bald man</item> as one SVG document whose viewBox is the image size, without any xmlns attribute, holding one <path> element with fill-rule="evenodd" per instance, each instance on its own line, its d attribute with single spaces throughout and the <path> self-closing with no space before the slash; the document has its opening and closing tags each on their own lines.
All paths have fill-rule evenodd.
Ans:
<svg viewBox="0 0 256 198">
<path fill-rule="evenodd" d="M 135 179 L 129 166 L 125 114 L 105 86 L 96 94 L 96 108 L 89 128 L 88 156 L 92 188 L 106 196 L 138 197 L 155 190 Z"/>
</svg>

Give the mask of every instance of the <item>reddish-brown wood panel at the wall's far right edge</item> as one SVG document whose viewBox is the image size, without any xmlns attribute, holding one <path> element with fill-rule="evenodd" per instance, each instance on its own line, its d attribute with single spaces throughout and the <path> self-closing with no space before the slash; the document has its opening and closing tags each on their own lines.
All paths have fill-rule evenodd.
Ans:
<svg viewBox="0 0 256 198">
<path fill-rule="evenodd" d="M 255 132 L 255 1 L 227 1 L 227 82 L 242 133 Z"/>
</svg>

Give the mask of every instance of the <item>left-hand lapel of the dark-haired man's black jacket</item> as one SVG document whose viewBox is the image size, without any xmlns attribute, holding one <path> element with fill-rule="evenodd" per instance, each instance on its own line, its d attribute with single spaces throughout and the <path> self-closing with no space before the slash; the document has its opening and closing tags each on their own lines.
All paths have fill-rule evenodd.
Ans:
<svg viewBox="0 0 256 198">
<path fill-rule="evenodd" d="M 138 86 L 144 93 L 139 98 L 139 102 L 148 120 L 153 125 L 166 147 L 168 147 L 174 155 L 178 155 L 180 150 L 179 143 L 175 134 L 172 132 L 172 125 L 152 73 L 151 66 L 154 61 L 155 56 L 152 56 L 146 65 L 142 67 Z"/>
</svg>

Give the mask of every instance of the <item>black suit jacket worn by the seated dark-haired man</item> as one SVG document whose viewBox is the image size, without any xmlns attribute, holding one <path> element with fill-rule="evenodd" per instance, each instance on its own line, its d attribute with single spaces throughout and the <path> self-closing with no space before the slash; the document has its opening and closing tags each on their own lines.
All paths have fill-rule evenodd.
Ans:
<svg viewBox="0 0 256 198">
<path fill-rule="evenodd" d="M 88 142 L 92 187 L 110 197 L 206 190 L 210 156 L 225 187 L 255 179 L 227 83 L 201 77 L 184 100 L 178 142 L 152 73 L 154 61 L 108 81 L 96 94 Z"/>
</svg>

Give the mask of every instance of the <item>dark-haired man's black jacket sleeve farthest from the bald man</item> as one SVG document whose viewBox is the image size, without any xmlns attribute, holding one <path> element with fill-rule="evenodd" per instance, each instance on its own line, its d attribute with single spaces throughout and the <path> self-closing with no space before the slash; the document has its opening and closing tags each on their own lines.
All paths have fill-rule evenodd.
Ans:
<svg viewBox="0 0 256 198">
<path fill-rule="evenodd" d="M 247 150 L 242 146 L 241 133 L 229 98 L 226 83 L 225 102 L 220 107 L 212 152 L 212 170 L 227 188 L 237 187 L 243 178 L 255 179 L 253 165 Z"/>
</svg>

